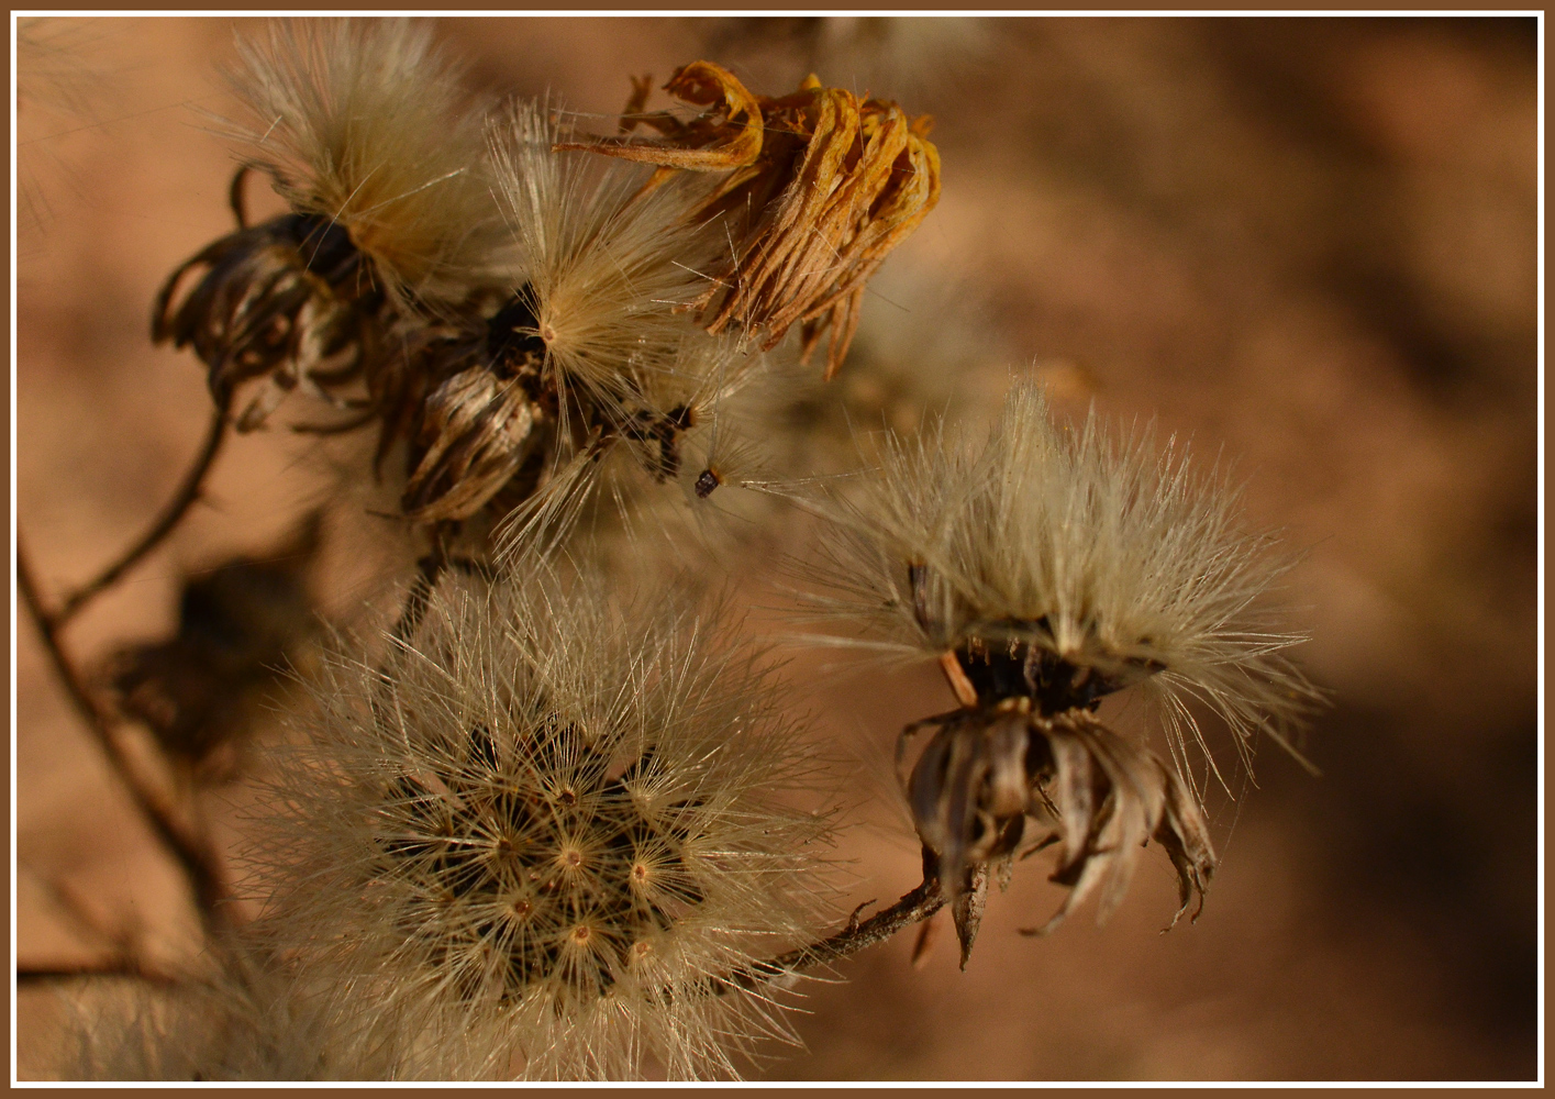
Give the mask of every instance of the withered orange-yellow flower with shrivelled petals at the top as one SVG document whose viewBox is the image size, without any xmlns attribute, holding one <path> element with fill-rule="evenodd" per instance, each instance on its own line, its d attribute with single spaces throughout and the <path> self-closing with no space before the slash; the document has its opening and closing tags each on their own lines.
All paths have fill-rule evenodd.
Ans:
<svg viewBox="0 0 1555 1099">
<path fill-rule="evenodd" d="M 939 201 L 933 120 L 908 118 L 886 99 L 858 101 L 813 75 L 787 96 L 754 96 L 726 68 L 698 61 L 664 89 L 709 107 L 689 123 L 639 113 L 647 81 L 634 82 L 622 129 L 661 137 L 568 141 L 611 157 L 675 169 L 726 173 L 698 204 L 717 219 L 729 250 L 697 298 L 709 333 L 740 330 L 770 350 L 795 323 L 805 359 L 830 331 L 826 376 L 841 367 L 858 325 L 865 283 Z"/>
</svg>

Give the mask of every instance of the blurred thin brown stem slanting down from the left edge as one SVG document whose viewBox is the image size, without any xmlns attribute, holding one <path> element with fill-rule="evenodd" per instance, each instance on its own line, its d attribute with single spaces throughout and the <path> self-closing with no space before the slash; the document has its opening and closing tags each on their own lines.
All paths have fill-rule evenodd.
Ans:
<svg viewBox="0 0 1555 1099">
<path fill-rule="evenodd" d="M 183 872 L 188 875 L 205 928 L 208 931 L 221 928 L 224 925 L 221 906 L 227 898 L 227 891 L 222 883 L 222 874 L 216 853 L 202 836 L 193 833 L 179 819 L 173 805 L 166 804 L 157 791 L 151 790 L 137 776 L 134 765 L 124 754 L 118 737 L 114 734 L 114 718 L 87 690 L 75 665 L 70 662 L 70 658 L 65 654 L 65 650 L 59 645 L 59 619 L 51 617 L 44 608 L 44 602 L 37 592 L 37 583 L 33 577 L 33 569 L 26 560 L 26 552 L 22 547 L 20 533 L 17 533 L 16 541 L 16 583 L 17 591 L 22 594 L 22 602 L 26 605 L 28 614 L 31 614 L 33 622 L 37 623 L 37 633 L 44 640 L 44 650 L 48 653 L 48 659 L 54 665 L 54 672 L 59 675 L 59 679 L 65 687 L 65 693 L 81 713 L 81 718 L 86 721 L 93 738 L 96 738 L 98 746 L 107 755 L 114 771 L 123 780 L 131 799 L 135 802 L 135 807 L 142 811 L 151 824 L 152 832 L 156 832 L 157 838 L 166 846 L 166 849 L 183 867 Z"/>
</svg>

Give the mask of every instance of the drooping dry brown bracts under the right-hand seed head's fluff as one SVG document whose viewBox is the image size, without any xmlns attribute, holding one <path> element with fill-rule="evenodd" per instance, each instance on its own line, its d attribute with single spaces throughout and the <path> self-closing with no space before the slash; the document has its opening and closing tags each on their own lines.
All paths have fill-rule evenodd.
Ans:
<svg viewBox="0 0 1555 1099">
<path fill-rule="evenodd" d="M 991 869 L 1009 881 L 1012 860 L 1059 846 L 1053 881 L 1070 886 L 1047 934 L 1101 886 L 1098 922 L 1123 895 L 1138 852 L 1155 839 L 1177 869 L 1182 917 L 1214 872 L 1204 813 L 1177 773 L 1152 752 L 1107 729 L 1085 707 L 1051 717 L 1029 700 L 964 707 L 910 724 L 907 740 L 933 727 L 935 737 L 907 779 L 925 860 L 952 897 L 963 959 L 981 920 Z M 1026 843 L 1028 819 L 1048 821 L 1048 836 Z"/>
</svg>

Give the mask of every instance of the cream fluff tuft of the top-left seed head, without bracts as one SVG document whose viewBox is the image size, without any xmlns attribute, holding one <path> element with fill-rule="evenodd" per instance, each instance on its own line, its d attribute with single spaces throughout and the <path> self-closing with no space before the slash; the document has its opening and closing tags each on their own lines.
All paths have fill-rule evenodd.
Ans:
<svg viewBox="0 0 1555 1099">
<path fill-rule="evenodd" d="M 342 225 L 401 300 L 435 308 L 490 275 L 501 216 L 482 112 L 429 26 L 277 20 L 238 53 L 253 121 L 230 137 L 292 210 Z"/>
</svg>

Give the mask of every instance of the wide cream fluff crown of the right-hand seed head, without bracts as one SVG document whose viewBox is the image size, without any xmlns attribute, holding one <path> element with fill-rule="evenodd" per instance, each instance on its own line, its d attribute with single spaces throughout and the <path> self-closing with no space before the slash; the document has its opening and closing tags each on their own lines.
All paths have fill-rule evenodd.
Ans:
<svg viewBox="0 0 1555 1099">
<path fill-rule="evenodd" d="M 1225 720 L 1244 763 L 1258 731 L 1300 759 L 1292 735 L 1320 692 L 1284 656 L 1305 634 L 1264 602 L 1294 561 L 1275 535 L 1241 529 L 1239 490 L 1176 438 L 1113 438 L 1095 410 L 1054 424 L 1042 389 L 1022 384 L 984 438 L 942 423 L 886 434 L 861 482 L 818 504 L 827 533 L 805 572 L 835 592 L 816 611 L 879 640 L 833 642 L 955 654 L 973 678 L 1008 650 L 1053 681 L 1053 709 L 1135 687 L 1185 774 L 1188 741 L 1218 774 L 1196 704 Z"/>
</svg>

